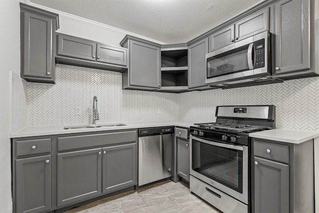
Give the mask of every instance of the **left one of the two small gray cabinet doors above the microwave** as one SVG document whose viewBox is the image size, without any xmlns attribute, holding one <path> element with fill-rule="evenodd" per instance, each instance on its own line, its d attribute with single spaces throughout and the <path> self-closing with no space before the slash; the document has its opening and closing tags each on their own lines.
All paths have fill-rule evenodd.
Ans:
<svg viewBox="0 0 319 213">
<path fill-rule="evenodd" d="M 234 25 L 225 27 L 208 37 L 208 52 L 227 46 L 234 42 Z"/>
</svg>

